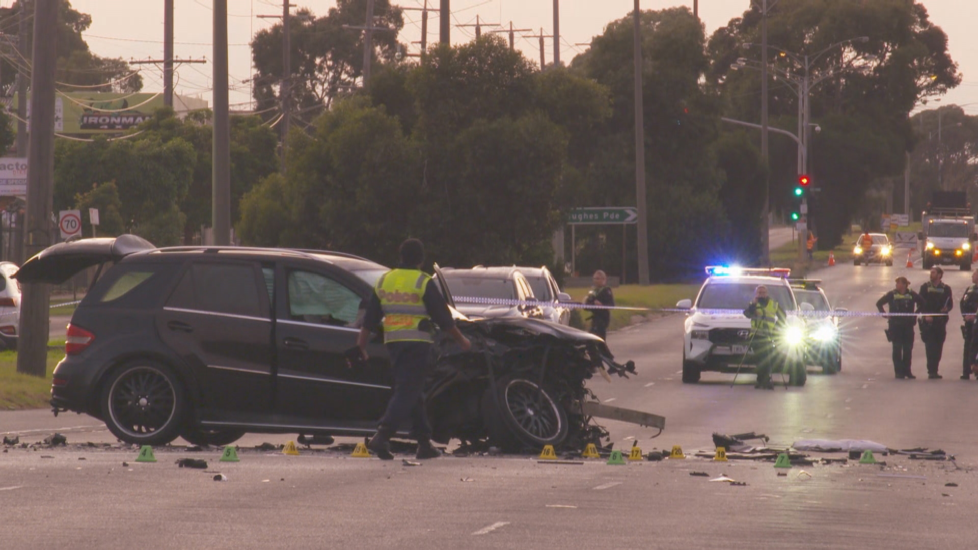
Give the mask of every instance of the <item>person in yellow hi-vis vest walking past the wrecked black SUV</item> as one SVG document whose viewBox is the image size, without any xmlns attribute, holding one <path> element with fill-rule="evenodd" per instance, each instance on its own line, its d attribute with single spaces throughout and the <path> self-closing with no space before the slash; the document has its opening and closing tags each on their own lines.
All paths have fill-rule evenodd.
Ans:
<svg viewBox="0 0 978 550">
<path fill-rule="evenodd" d="M 401 244 L 400 256 L 400 266 L 378 280 L 357 339 L 360 354 L 366 360 L 371 332 L 383 329 L 383 343 L 390 355 L 394 379 L 394 392 L 387 410 L 367 448 L 377 453 L 381 460 L 392 460 L 390 437 L 397 433 L 404 421 L 410 420 L 411 436 L 418 439 L 417 458 L 435 458 L 441 456 L 441 451 L 431 444 L 431 426 L 424 413 L 422 396 L 434 342 L 431 322 L 434 321 L 464 350 L 467 351 L 471 344 L 455 326 L 445 298 L 431 277 L 421 270 L 424 262 L 422 242 L 408 239 Z"/>
</svg>

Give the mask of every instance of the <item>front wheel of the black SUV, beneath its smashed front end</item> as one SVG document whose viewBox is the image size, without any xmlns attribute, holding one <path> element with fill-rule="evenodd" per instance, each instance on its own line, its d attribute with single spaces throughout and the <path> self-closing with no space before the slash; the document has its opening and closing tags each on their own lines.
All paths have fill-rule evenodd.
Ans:
<svg viewBox="0 0 978 550">
<path fill-rule="evenodd" d="M 509 452 L 559 446 L 567 437 L 567 413 L 552 390 L 524 378 L 504 378 L 482 394 L 489 440 Z"/>
</svg>

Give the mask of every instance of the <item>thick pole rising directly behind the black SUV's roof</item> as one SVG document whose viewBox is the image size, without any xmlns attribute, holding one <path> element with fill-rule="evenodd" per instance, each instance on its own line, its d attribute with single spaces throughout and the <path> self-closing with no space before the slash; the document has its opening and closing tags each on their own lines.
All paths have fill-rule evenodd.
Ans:
<svg viewBox="0 0 978 550">
<path fill-rule="evenodd" d="M 228 114 L 228 0 L 214 0 L 214 136 L 211 231 L 214 245 L 231 244 L 231 125 Z"/>
</svg>

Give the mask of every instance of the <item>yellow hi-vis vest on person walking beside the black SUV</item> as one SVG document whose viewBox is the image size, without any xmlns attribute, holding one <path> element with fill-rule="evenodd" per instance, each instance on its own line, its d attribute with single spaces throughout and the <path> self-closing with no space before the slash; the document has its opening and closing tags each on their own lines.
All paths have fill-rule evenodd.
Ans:
<svg viewBox="0 0 978 550">
<path fill-rule="evenodd" d="M 377 297 L 383 311 L 383 342 L 434 342 L 422 322 L 431 317 L 424 308 L 424 289 L 431 280 L 417 269 L 392 269 L 377 282 Z"/>
</svg>

